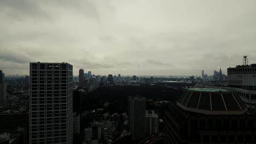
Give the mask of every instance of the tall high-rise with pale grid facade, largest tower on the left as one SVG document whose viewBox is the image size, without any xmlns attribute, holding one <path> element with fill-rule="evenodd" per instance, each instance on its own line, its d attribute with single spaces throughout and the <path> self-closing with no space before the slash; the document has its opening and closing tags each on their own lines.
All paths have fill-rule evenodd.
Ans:
<svg viewBox="0 0 256 144">
<path fill-rule="evenodd" d="M 73 143 L 73 66 L 30 63 L 30 144 Z"/>
</svg>

